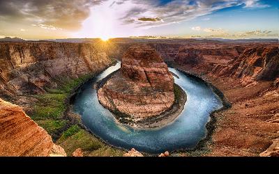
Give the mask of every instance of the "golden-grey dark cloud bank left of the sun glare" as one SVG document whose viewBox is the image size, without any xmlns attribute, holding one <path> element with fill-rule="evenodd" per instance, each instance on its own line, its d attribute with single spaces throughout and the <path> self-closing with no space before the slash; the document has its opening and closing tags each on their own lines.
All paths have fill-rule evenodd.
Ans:
<svg viewBox="0 0 279 174">
<path fill-rule="evenodd" d="M 101 1 L 103 0 L 0 0 L 0 19 L 76 30 L 89 16 L 90 7 Z"/>
</svg>

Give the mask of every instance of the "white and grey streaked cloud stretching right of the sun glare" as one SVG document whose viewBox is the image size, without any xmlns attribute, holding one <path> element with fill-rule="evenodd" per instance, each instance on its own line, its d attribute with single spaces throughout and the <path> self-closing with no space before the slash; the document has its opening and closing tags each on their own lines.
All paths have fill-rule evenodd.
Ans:
<svg viewBox="0 0 279 174">
<path fill-rule="evenodd" d="M 160 1 L 131 0 L 131 8 L 127 10 L 126 15 L 121 19 L 125 21 L 125 24 L 129 24 L 127 23 L 129 19 L 131 22 L 130 24 L 150 28 L 153 26 L 164 26 L 166 24 L 195 19 L 196 17 L 209 15 L 216 10 L 232 6 L 240 6 L 245 3 L 246 0 L 174 0 L 161 5 Z M 163 22 L 146 24 L 144 21 L 137 20 L 142 17 L 160 17 Z M 204 18 L 204 20 L 209 20 L 209 18 Z"/>
</svg>

